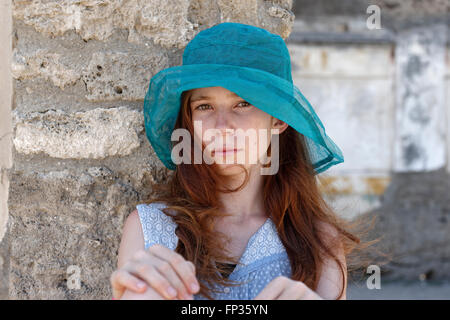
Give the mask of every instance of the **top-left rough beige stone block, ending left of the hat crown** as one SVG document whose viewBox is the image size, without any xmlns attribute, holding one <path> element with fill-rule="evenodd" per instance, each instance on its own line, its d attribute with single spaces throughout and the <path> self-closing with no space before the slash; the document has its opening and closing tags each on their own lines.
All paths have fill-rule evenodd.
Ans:
<svg viewBox="0 0 450 320">
<path fill-rule="evenodd" d="M 186 0 L 18 0 L 13 13 L 49 36 L 76 30 L 84 40 L 107 40 L 115 28 L 124 28 L 131 42 L 145 37 L 162 46 L 184 47 L 194 35 L 194 25 L 186 19 L 188 6 Z"/>
</svg>

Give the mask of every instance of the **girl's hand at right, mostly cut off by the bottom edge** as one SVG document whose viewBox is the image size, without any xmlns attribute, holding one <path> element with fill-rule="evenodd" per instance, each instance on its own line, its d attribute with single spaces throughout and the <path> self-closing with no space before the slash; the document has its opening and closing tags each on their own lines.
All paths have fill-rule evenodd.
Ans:
<svg viewBox="0 0 450 320">
<path fill-rule="evenodd" d="M 301 281 L 287 277 L 273 279 L 254 300 L 323 300 Z"/>
</svg>

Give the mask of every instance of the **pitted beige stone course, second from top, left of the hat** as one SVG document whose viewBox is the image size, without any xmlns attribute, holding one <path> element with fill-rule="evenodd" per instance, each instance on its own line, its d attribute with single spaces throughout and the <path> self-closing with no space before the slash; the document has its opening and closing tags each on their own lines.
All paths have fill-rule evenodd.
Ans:
<svg viewBox="0 0 450 320">
<path fill-rule="evenodd" d="M 91 54 L 89 50 L 83 53 L 85 59 L 80 59 L 76 51 L 61 48 L 33 51 L 22 41 L 19 48 L 13 55 L 15 79 L 49 80 L 62 90 L 82 81 L 89 101 L 143 100 L 152 70 L 169 66 L 165 52 L 136 50 L 133 46 Z M 27 93 L 33 93 L 30 86 Z"/>
</svg>

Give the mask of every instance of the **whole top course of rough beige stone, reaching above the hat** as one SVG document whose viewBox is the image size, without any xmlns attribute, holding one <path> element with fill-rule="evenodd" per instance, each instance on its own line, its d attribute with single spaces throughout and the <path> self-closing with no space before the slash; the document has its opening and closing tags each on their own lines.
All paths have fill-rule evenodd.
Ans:
<svg viewBox="0 0 450 320">
<path fill-rule="evenodd" d="M 126 29 L 128 41 L 140 43 L 152 39 L 167 48 L 184 48 L 197 33 L 199 24 L 188 17 L 200 6 L 214 6 L 220 12 L 219 21 L 242 21 L 258 24 L 273 17 L 281 18 L 281 28 L 288 28 L 294 19 L 290 11 L 292 1 L 222 1 L 204 4 L 205 1 L 164 0 L 82 0 L 82 1 L 13 1 L 14 18 L 23 20 L 38 32 L 59 36 L 75 30 L 84 40 L 107 40 L 115 28 Z M 268 6 L 268 7 L 266 7 Z M 258 14 L 259 8 L 262 8 Z M 191 11 L 192 8 L 192 11 Z M 261 16 L 262 13 L 265 14 Z M 201 18 L 197 21 L 202 22 Z M 217 22 L 214 21 L 214 22 Z M 272 21 L 273 23 L 274 21 Z M 270 22 L 268 23 L 271 24 Z M 279 28 L 278 28 L 279 29 Z M 277 30 L 274 30 L 274 32 Z M 281 34 L 287 37 L 289 31 Z"/>
</svg>

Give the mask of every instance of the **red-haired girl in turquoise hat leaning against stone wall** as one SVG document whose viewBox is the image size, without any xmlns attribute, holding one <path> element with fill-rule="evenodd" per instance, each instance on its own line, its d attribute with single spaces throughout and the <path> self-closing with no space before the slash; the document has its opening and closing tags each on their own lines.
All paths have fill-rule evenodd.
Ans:
<svg viewBox="0 0 450 320">
<path fill-rule="evenodd" d="M 144 116 L 175 172 L 126 219 L 115 299 L 346 298 L 359 238 L 316 180 L 343 156 L 293 85 L 281 37 L 201 31 L 182 66 L 152 78 Z"/>
</svg>

